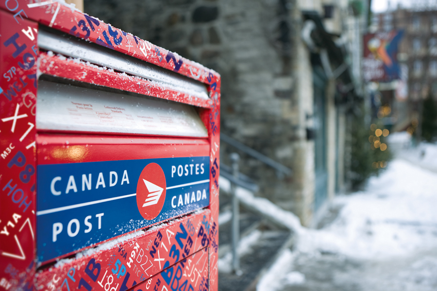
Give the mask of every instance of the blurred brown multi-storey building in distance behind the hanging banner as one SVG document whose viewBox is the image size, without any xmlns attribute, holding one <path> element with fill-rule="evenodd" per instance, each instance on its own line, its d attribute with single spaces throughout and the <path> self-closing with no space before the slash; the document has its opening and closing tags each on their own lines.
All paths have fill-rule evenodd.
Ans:
<svg viewBox="0 0 437 291">
<path fill-rule="evenodd" d="M 414 132 L 418 140 L 430 141 L 435 133 L 426 129 L 428 120 L 423 110 L 426 113 L 435 107 L 437 100 L 437 10 L 425 4 L 419 1 L 410 8 L 397 6 L 375 14 L 369 29 L 370 32 L 403 33 L 397 53 L 401 76 L 377 86 L 380 91 L 376 94 L 377 101 L 392 109 L 391 117 L 384 123 L 393 131 L 407 130 L 410 134 Z M 425 108 L 424 103 L 427 103 Z M 423 125 L 425 132 L 422 132 Z"/>
</svg>

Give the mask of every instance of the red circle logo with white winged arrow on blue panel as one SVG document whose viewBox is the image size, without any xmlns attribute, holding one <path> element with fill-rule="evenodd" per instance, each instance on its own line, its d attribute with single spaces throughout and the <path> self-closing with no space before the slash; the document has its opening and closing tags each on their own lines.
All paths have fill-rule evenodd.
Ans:
<svg viewBox="0 0 437 291">
<path fill-rule="evenodd" d="M 152 220 L 162 210 L 166 201 L 166 176 L 161 166 L 151 162 L 144 167 L 136 184 L 136 205 L 147 220 Z"/>
</svg>

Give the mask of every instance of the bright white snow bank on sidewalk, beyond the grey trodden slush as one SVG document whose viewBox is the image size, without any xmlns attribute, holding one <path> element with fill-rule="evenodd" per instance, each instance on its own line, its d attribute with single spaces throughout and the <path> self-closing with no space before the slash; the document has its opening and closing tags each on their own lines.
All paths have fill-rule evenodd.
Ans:
<svg viewBox="0 0 437 291">
<path fill-rule="evenodd" d="M 322 230 L 308 229 L 301 252 L 324 251 L 354 258 L 403 256 L 437 244 L 437 175 L 395 160 L 365 192 L 336 197 L 344 204 Z"/>
</svg>

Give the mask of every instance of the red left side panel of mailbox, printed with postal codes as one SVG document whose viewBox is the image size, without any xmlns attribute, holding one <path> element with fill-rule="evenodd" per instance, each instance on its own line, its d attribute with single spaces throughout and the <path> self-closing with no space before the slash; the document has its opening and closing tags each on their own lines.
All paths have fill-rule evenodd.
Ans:
<svg viewBox="0 0 437 291">
<path fill-rule="evenodd" d="M 32 286 L 35 254 L 37 25 L 19 20 L 0 11 L 0 287 L 9 290 Z"/>
</svg>

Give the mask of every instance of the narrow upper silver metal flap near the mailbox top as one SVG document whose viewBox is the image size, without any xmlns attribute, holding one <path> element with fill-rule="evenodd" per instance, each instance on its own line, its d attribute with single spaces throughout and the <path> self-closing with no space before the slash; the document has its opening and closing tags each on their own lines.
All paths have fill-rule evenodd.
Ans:
<svg viewBox="0 0 437 291">
<path fill-rule="evenodd" d="M 65 33 L 41 27 L 38 33 L 38 47 L 148 80 L 165 83 L 194 97 L 209 99 L 206 86 L 199 81 L 191 80 L 157 65 L 149 64 Z"/>
</svg>

